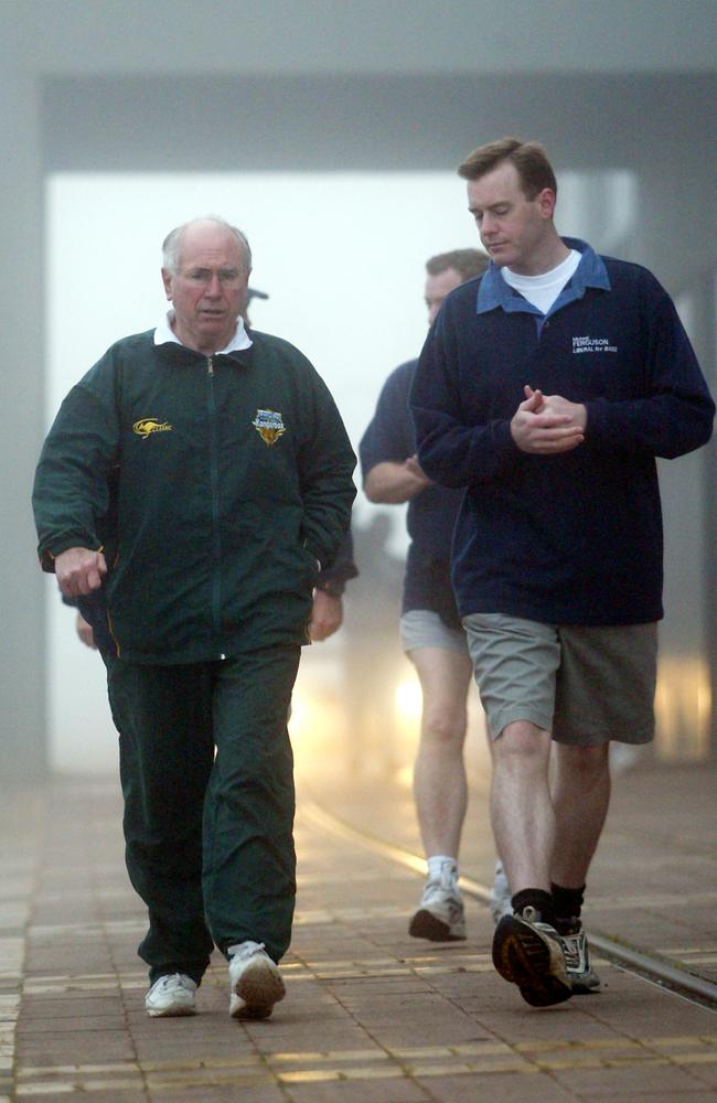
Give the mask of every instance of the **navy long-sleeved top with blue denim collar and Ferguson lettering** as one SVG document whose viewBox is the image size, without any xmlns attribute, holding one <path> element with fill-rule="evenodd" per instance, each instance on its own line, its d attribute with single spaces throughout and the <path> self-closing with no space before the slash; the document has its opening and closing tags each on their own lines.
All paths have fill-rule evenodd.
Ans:
<svg viewBox="0 0 717 1103">
<path fill-rule="evenodd" d="M 410 405 L 426 473 L 468 488 L 453 542 L 462 615 L 631 624 L 662 617 L 655 457 L 704 445 L 715 405 L 666 291 L 585 242 L 542 314 L 492 264 L 452 291 L 428 334 Z M 585 441 L 521 451 L 529 384 L 585 404 Z"/>
</svg>

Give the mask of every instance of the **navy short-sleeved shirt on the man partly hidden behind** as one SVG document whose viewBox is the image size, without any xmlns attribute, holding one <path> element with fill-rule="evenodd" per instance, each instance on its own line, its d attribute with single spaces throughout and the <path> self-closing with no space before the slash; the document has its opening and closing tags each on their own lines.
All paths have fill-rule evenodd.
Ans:
<svg viewBox="0 0 717 1103">
<path fill-rule="evenodd" d="M 383 386 L 376 413 L 358 445 L 363 479 L 377 463 L 404 463 L 416 453 L 416 435 L 408 409 L 417 360 L 397 367 Z M 462 490 L 427 486 L 408 503 L 410 537 L 404 578 L 403 611 L 428 609 L 450 628 L 460 628 L 450 581 L 450 544 Z"/>
</svg>

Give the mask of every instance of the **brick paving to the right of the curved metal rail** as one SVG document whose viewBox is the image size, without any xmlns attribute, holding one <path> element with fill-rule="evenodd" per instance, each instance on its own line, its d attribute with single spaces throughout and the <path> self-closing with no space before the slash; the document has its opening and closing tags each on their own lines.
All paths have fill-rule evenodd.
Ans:
<svg viewBox="0 0 717 1103">
<path fill-rule="evenodd" d="M 310 791 L 335 815 L 421 852 L 409 788 L 328 773 Z M 474 777 L 461 868 L 490 885 L 493 861 L 488 779 Z M 678 957 L 717 983 L 717 763 L 666 767 L 648 759 L 613 778 L 586 899 L 596 930 Z"/>
</svg>

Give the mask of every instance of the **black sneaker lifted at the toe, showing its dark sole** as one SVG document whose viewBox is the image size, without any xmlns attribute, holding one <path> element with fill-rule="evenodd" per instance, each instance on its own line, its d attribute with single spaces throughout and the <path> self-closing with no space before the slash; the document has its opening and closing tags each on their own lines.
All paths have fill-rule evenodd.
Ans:
<svg viewBox="0 0 717 1103">
<path fill-rule="evenodd" d="M 563 939 L 541 921 L 535 908 L 504 915 L 495 928 L 493 964 L 505 981 L 516 984 L 526 1004 L 549 1007 L 572 995 Z"/>
</svg>

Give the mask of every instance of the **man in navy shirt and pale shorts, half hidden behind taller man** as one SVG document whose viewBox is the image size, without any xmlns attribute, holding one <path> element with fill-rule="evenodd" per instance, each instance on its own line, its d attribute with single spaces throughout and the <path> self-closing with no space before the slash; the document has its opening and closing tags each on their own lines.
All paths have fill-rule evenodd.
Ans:
<svg viewBox="0 0 717 1103">
<path fill-rule="evenodd" d="M 449 291 L 480 275 L 486 265 L 488 257 L 480 249 L 453 249 L 426 263 L 429 325 Z M 434 483 L 416 459 L 408 395 L 417 363 L 402 364 L 386 379 L 358 456 L 371 502 L 408 502 L 410 545 L 400 634 L 422 695 L 414 795 L 428 865 L 420 904 L 408 930 L 415 938 L 441 942 L 465 938 L 458 850 L 468 802 L 463 745 L 471 661 L 450 580 L 451 536 L 463 491 Z"/>
</svg>

